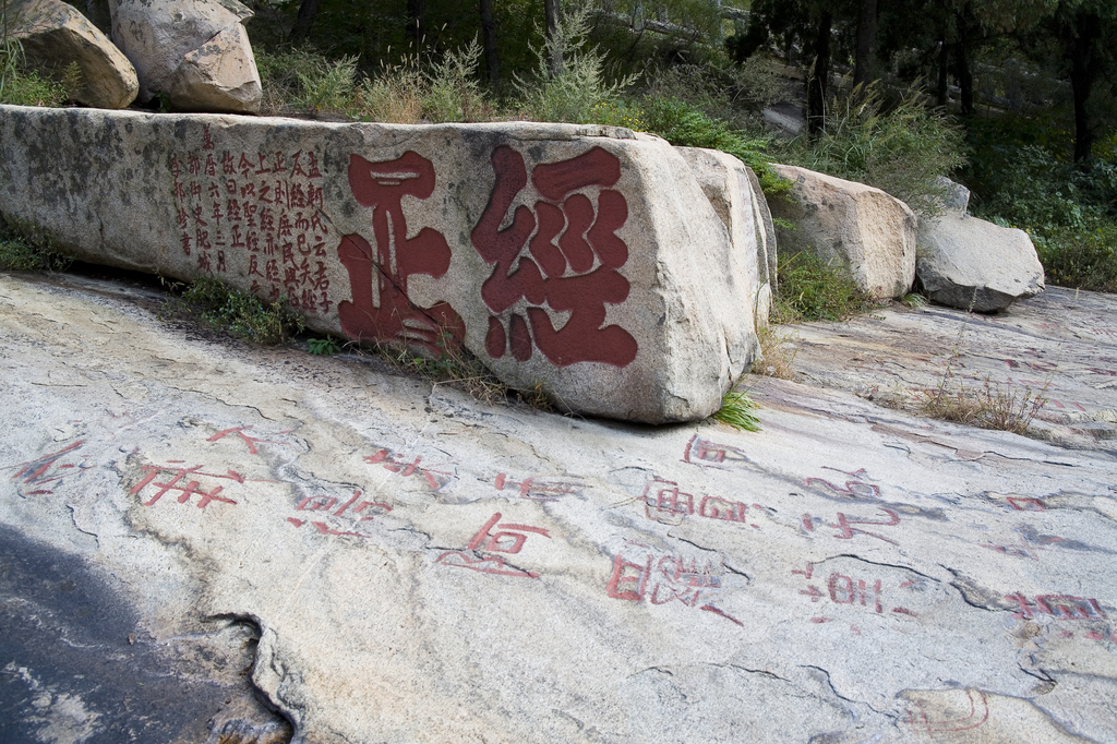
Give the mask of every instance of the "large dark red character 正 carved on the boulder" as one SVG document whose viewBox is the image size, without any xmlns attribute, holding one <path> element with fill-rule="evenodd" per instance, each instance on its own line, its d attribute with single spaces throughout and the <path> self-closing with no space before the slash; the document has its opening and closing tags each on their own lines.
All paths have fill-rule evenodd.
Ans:
<svg viewBox="0 0 1117 744">
<path fill-rule="evenodd" d="M 435 165 L 411 151 L 379 163 L 352 155 L 349 181 L 357 202 L 372 209 L 375 246 L 347 235 L 337 247 L 353 288 L 353 301 L 337 306 L 342 330 L 351 338 L 405 343 L 433 353 L 460 344 L 465 325 L 448 303 L 423 309 L 408 296 L 410 277 L 438 278 L 450 268 L 450 246 L 442 233 L 424 227 L 408 238 L 403 213 L 404 197 L 424 200 L 435 192 Z"/>
</svg>

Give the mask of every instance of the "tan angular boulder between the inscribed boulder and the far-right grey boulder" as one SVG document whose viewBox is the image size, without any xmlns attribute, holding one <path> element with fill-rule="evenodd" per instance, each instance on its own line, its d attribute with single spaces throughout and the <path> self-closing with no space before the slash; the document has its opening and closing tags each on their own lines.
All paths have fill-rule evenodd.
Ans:
<svg viewBox="0 0 1117 744">
<path fill-rule="evenodd" d="M 780 232 L 783 252 L 809 250 L 848 267 L 876 298 L 901 297 L 915 280 L 917 220 L 907 204 L 880 189 L 805 168 L 775 165 L 795 183 L 791 200 L 773 201 L 775 217 L 796 230 Z"/>
</svg>

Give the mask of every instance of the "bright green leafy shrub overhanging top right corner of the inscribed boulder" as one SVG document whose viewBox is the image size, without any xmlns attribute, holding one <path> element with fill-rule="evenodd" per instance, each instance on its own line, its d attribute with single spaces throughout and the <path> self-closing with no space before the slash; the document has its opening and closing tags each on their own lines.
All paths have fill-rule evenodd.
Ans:
<svg viewBox="0 0 1117 744">
<path fill-rule="evenodd" d="M 649 132 L 680 147 L 720 150 L 755 171 L 767 195 L 791 189 L 791 182 L 772 170 L 765 151 L 767 140 L 747 140 L 720 120 L 710 118 L 700 108 L 678 98 L 643 99 L 643 123 Z"/>
</svg>

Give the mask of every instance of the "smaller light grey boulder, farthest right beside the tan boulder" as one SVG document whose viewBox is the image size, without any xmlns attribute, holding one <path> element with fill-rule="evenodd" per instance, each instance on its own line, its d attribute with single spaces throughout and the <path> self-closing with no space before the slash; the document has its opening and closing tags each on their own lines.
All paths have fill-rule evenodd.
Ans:
<svg viewBox="0 0 1117 744">
<path fill-rule="evenodd" d="M 934 302 L 977 313 L 1043 292 L 1043 266 L 1027 232 L 956 212 L 919 225 L 916 276 Z"/>
</svg>

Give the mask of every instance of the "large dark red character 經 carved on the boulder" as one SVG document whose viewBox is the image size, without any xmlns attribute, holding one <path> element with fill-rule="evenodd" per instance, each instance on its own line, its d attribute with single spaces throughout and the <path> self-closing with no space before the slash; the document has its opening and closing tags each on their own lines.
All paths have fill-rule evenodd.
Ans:
<svg viewBox="0 0 1117 744">
<path fill-rule="evenodd" d="M 612 189 L 621 177 L 620 160 L 593 147 L 536 165 L 531 183 L 541 199 L 534 211 L 516 207 L 504 229 L 508 210 L 527 187 L 527 169 L 523 155 L 506 145 L 493 151 L 491 163 L 496 184 L 470 236 L 494 267 L 481 286 L 493 313 L 488 354 L 502 359 L 510 353 L 526 362 L 538 349 L 557 366 L 630 364 L 636 338 L 619 325 L 605 325 L 605 306 L 623 303 L 630 290 L 619 271 L 628 261 L 628 246 L 617 236 L 628 220 L 628 202 Z M 515 312 L 521 301 L 523 312 Z"/>
</svg>

